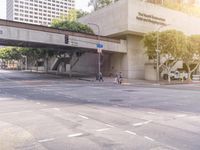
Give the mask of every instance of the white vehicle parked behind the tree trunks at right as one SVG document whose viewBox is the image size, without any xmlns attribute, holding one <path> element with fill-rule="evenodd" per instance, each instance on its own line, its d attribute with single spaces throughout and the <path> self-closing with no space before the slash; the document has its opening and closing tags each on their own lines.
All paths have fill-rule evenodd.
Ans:
<svg viewBox="0 0 200 150">
<path fill-rule="evenodd" d="M 171 80 L 182 80 L 182 79 L 186 80 L 188 78 L 188 73 L 180 72 L 180 71 L 171 71 L 170 78 L 171 78 Z M 167 73 L 163 74 L 163 79 L 164 80 L 168 79 Z"/>
</svg>

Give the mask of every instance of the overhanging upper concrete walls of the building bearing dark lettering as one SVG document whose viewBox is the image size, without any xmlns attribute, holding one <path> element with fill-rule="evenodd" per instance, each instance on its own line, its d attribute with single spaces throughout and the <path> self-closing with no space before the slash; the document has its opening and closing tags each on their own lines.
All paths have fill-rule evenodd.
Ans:
<svg viewBox="0 0 200 150">
<path fill-rule="evenodd" d="M 114 37 L 127 34 L 142 35 L 158 29 L 159 24 L 138 20 L 136 17 L 139 12 L 165 19 L 165 23 L 170 25 L 163 30 L 173 28 L 186 34 L 200 34 L 198 17 L 141 0 L 120 0 L 81 18 L 79 21 L 85 24 L 96 23 L 100 26 L 101 35 Z M 97 31 L 96 27 L 91 27 Z"/>
</svg>

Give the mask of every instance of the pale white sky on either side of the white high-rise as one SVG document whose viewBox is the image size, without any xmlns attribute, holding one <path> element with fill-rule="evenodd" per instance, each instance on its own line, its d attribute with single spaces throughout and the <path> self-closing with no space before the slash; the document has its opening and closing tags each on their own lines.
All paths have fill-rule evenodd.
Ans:
<svg viewBox="0 0 200 150">
<path fill-rule="evenodd" d="M 76 0 L 76 9 L 90 11 L 88 2 L 89 0 Z M 6 18 L 6 0 L 0 0 L 0 18 Z"/>
</svg>

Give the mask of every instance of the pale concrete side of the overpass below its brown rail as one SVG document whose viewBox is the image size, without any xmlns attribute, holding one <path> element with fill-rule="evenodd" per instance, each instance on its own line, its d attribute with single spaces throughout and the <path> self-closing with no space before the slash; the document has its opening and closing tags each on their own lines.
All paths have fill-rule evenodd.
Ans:
<svg viewBox="0 0 200 150">
<path fill-rule="evenodd" d="M 84 38 L 79 36 L 68 36 L 69 43 L 65 42 L 65 34 L 0 26 L 1 34 L 0 39 L 34 42 L 40 44 L 49 44 L 57 46 L 69 46 L 77 48 L 93 49 L 96 51 L 97 39 Z M 126 53 L 126 41 L 120 40 L 119 42 L 110 42 L 101 40 L 104 45 L 104 51 Z"/>
</svg>

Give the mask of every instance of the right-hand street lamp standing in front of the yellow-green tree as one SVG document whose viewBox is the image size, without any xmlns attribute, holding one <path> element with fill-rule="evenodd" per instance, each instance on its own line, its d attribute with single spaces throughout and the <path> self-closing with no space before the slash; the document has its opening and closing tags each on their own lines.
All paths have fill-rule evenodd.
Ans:
<svg viewBox="0 0 200 150">
<path fill-rule="evenodd" d="M 170 24 L 165 24 L 165 25 L 161 25 L 156 31 L 157 31 L 157 40 L 156 40 L 156 81 L 157 83 L 159 83 L 160 80 L 160 66 L 159 66 L 159 57 L 160 57 L 160 50 L 159 50 L 159 31 L 160 29 L 162 29 L 163 27 L 169 26 Z"/>
</svg>

